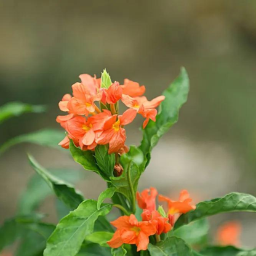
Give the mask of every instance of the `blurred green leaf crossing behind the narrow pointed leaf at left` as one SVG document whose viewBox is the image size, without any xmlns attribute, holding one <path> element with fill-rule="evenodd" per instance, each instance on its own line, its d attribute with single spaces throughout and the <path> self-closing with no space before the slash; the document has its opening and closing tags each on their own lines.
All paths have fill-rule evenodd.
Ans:
<svg viewBox="0 0 256 256">
<path fill-rule="evenodd" d="M 49 172 L 65 182 L 78 182 L 85 174 L 80 170 L 49 169 Z M 45 180 L 38 174 L 33 175 L 28 182 L 26 191 L 22 193 L 18 202 L 19 214 L 30 214 L 36 210 L 41 202 L 54 191 L 47 185 Z"/>
</svg>

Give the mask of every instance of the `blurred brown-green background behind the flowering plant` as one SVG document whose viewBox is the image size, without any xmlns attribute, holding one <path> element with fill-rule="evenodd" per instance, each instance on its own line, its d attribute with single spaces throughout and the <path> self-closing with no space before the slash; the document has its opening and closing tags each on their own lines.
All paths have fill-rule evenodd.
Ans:
<svg viewBox="0 0 256 256">
<path fill-rule="evenodd" d="M 156 97 L 185 66 L 191 81 L 178 124 L 153 151 L 139 188 L 155 186 L 195 202 L 230 191 L 256 196 L 256 1 L 0 1 L 0 105 L 44 104 L 0 127 L 0 143 L 45 127 L 58 129 L 58 101 L 81 73 L 129 78 Z M 128 143 L 141 138 L 138 119 Z M 64 132 L 63 132 L 64 135 Z M 68 154 L 18 145 L 0 158 L 0 222 L 15 214 L 33 170 L 26 152 L 45 167 L 79 169 Z M 105 183 L 86 173 L 78 183 L 97 199 Z M 54 199 L 41 207 L 55 220 Z M 226 220 L 242 223 L 242 245 L 256 246 L 255 214 L 210 218 L 212 234 Z"/>
</svg>

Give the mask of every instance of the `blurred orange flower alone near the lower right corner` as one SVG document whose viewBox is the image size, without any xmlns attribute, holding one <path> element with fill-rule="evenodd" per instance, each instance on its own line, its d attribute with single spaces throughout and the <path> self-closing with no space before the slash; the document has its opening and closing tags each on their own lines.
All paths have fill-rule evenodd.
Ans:
<svg viewBox="0 0 256 256">
<path fill-rule="evenodd" d="M 239 246 L 241 224 L 239 222 L 227 222 L 217 230 L 217 241 L 222 246 Z"/>
</svg>

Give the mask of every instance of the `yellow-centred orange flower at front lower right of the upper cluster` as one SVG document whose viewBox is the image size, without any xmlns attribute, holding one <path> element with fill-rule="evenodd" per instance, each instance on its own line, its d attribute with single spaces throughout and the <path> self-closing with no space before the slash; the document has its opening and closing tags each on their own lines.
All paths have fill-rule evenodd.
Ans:
<svg viewBox="0 0 256 256">
<path fill-rule="evenodd" d="M 126 130 L 122 126 L 130 124 L 136 116 L 135 110 L 126 110 L 121 116 L 114 114 L 106 119 L 103 125 L 103 132 L 96 140 L 99 145 L 109 144 L 108 153 L 117 153 L 124 147 L 126 142 Z M 118 120 L 116 120 L 118 118 Z"/>
</svg>

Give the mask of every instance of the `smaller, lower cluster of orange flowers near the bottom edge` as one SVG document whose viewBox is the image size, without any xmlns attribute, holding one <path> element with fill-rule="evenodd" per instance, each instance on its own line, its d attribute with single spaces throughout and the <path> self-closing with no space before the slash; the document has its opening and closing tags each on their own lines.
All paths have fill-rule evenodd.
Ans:
<svg viewBox="0 0 256 256">
<path fill-rule="evenodd" d="M 136 244 L 137 251 L 146 250 L 151 235 L 155 234 L 158 241 L 160 234 L 168 233 L 174 226 L 175 215 L 185 214 L 195 209 L 195 206 L 190 204 L 192 199 L 186 190 L 180 192 L 178 201 L 172 201 L 166 196 L 159 195 L 159 201 L 168 202 L 167 217 L 163 216 L 160 211 L 156 210 L 157 196 L 158 191 L 156 188 L 144 190 L 142 193 L 137 192 L 138 206 L 143 209 L 142 222 L 138 222 L 133 214 L 119 217 L 114 222 L 111 222 L 117 229 L 113 238 L 108 241 L 110 247 L 118 248 L 122 244 Z"/>
</svg>

